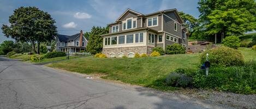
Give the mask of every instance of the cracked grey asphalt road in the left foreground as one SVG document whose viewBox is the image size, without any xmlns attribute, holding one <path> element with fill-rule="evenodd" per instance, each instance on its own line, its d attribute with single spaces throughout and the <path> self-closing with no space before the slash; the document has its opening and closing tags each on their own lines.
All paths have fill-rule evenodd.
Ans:
<svg viewBox="0 0 256 109">
<path fill-rule="evenodd" d="M 86 79 L 0 57 L 0 108 L 209 108 L 143 87 Z"/>
</svg>

